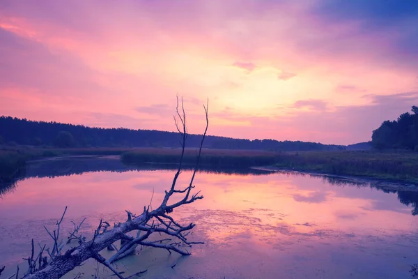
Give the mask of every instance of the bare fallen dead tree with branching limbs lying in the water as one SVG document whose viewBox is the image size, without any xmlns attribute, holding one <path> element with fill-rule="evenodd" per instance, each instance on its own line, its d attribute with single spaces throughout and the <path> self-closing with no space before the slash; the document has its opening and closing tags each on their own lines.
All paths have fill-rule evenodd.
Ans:
<svg viewBox="0 0 418 279">
<path fill-rule="evenodd" d="M 208 131 L 208 104 L 203 105 L 203 108 L 206 114 L 206 129 L 202 136 L 199 153 L 196 158 L 196 165 L 189 181 L 189 186 L 183 188 L 182 190 L 176 189 L 176 182 L 182 169 L 185 142 L 187 138 L 186 114 L 183 105 L 183 98 L 181 99 L 181 111 L 179 111 L 179 102 L 177 98 L 176 115 L 174 116 L 174 120 L 176 128 L 181 135 L 182 140 L 180 144 L 182 151 L 177 172 L 174 175 L 171 187 L 168 191 L 165 191 L 165 196 L 160 206 L 153 210 L 150 210 L 150 206 L 144 206 L 144 210 L 139 216 L 127 211 L 127 221 L 125 221 L 125 223 L 115 224 L 111 229 L 109 229 L 109 227 L 111 227 L 109 223 L 100 220 L 100 224 L 98 225 L 98 228 L 95 229 L 93 234 L 93 239 L 90 241 L 86 241 L 86 236 L 79 234 L 79 229 L 84 223 L 84 220 L 79 225 L 73 223 L 74 231 L 70 233 L 68 241 L 64 243 L 63 239 L 60 238 L 60 225 L 63 222 L 65 212 L 67 211 L 67 207 L 65 207 L 63 216 L 56 223 L 56 230 L 50 232 L 47 227 L 45 227 L 45 230 L 53 240 L 52 250 L 50 248 L 45 248 L 45 246 L 39 246 L 39 251 L 35 252 L 35 246 L 32 239 L 31 255 L 24 258 L 28 262 L 28 270 L 22 274 L 22 271 L 20 272 L 18 266 L 16 273 L 10 278 L 61 278 L 61 276 L 65 275 L 69 271 L 72 271 L 75 267 L 80 266 L 87 259 L 95 259 L 100 264 L 107 266 L 107 268 L 110 269 L 116 277 L 126 279 L 121 275 L 122 273 L 116 271 L 111 264 L 118 259 L 130 255 L 137 246 L 161 248 L 170 253 L 177 252 L 180 255 L 190 255 L 187 247 L 192 247 L 194 244 L 203 244 L 203 242 L 193 242 L 187 240 L 187 235 L 195 226 L 194 223 L 190 223 L 189 225 L 180 225 L 176 222 L 176 220 L 169 216 L 169 214 L 179 206 L 191 204 L 197 199 L 203 198 L 202 195 L 199 195 L 200 191 L 192 195 L 192 190 L 194 189 L 194 176 L 197 168 L 199 167 L 203 140 L 205 140 L 206 133 Z M 176 203 L 170 203 L 170 198 L 173 195 L 183 195 L 183 199 Z M 128 234 L 135 231 L 137 232 L 136 236 Z M 150 241 L 150 236 L 154 233 L 162 235 L 162 239 L 159 239 L 158 241 Z M 73 248 L 68 248 L 68 244 L 72 243 L 72 241 L 77 241 L 78 245 Z M 100 251 L 105 248 L 115 250 L 116 246 L 114 243 L 116 243 L 116 241 L 121 241 L 121 248 L 117 250 L 111 258 L 104 259 L 104 257 L 100 255 Z M 2 271 L 3 268 L 0 269 L 0 274 Z M 139 276 L 144 272 L 145 271 L 141 271 L 133 274 L 132 276 Z M 127 278 L 131 278 L 132 276 Z"/>
</svg>

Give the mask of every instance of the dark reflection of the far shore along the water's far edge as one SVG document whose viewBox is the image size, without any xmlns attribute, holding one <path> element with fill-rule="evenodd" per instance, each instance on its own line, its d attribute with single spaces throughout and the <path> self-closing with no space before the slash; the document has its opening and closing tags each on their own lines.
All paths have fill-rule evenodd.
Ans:
<svg viewBox="0 0 418 279">
<path fill-rule="evenodd" d="M 119 160 L 118 156 L 102 156 L 102 157 L 87 157 L 80 156 L 78 158 L 58 159 L 58 160 L 40 160 L 31 163 L 20 177 L 14 181 L 0 184 L 0 198 L 6 195 L 9 191 L 13 192 L 17 187 L 19 181 L 31 178 L 54 178 L 57 176 L 71 176 L 75 174 L 84 174 L 85 172 L 135 172 L 135 171 L 158 171 L 158 170 L 173 170 L 176 165 L 164 164 L 142 164 L 142 165 L 125 165 Z M 185 165 L 185 170 L 192 170 L 192 166 Z M 250 168 L 222 168 L 215 169 L 206 166 L 201 166 L 199 172 L 210 174 L 229 174 L 229 175 L 270 175 L 274 172 L 264 169 L 250 169 Z M 403 183 L 383 183 L 379 181 L 364 181 L 362 179 L 344 178 L 340 176 L 320 175 L 320 174 L 304 174 L 302 172 L 281 172 L 286 176 L 300 176 L 300 177 L 317 177 L 322 179 L 325 183 L 332 186 L 350 186 L 357 188 L 374 188 L 384 193 L 394 193 L 398 195 L 398 200 L 406 206 L 411 206 L 413 216 L 418 215 L 418 189 L 405 188 Z M 323 202 L 325 200 L 324 193 L 309 193 L 307 196 L 295 195 L 295 199 L 300 202 Z"/>
</svg>

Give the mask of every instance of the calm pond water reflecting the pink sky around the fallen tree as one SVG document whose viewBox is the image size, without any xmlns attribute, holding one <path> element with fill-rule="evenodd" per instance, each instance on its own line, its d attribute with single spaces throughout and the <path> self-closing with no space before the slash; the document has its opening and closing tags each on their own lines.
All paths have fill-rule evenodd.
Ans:
<svg viewBox="0 0 418 279">
<path fill-rule="evenodd" d="M 79 158 L 34 163 L 26 179 L 3 189 L 0 199 L 0 265 L 6 278 L 31 237 L 49 241 L 43 225 L 54 227 L 68 206 L 64 228 L 87 217 L 84 230 L 98 220 L 125 220 L 125 209 L 157 207 L 169 188 L 171 169 L 136 170 L 111 158 Z M 178 186 L 190 176 L 180 175 Z M 243 175 L 245 174 L 245 175 Z M 418 193 L 382 190 L 369 183 L 247 170 L 199 172 L 196 189 L 204 199 L 173 213 L 196 223 L 193 255 L 144 249 L 118 263 L 141 278 L 410 278 L 418 262 Z M 48 243 L 48 242 L 47 242 Z M 176 264 L 172 269 L 171 266 Z M 83 278 L 108 271 L 88 262 L 75 273 Z M 68 276 L 74 278 L 74 276 Z M 111 277 L 111 278 L 114 278 Z"/>
</svg>

